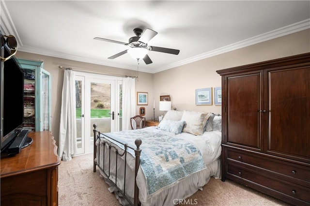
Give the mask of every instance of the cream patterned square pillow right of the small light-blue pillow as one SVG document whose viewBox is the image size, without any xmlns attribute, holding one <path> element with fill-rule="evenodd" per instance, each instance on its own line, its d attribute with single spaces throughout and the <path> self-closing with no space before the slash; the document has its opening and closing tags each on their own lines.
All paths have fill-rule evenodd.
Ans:
<svg viewBox="0 0 310 206">
<path fill-rule="evenodd" d="M 181 118 L 186 124 L 182 132 L 188 132 L 194 135 L 202 135 L 204 125 L 207 121 L 208 112 L 189 112 L 184 111 Z"/>
</svg>

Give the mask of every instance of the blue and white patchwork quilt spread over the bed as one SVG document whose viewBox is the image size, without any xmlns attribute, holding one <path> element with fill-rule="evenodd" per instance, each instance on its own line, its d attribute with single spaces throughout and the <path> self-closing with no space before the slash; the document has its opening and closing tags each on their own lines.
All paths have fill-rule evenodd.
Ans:
<svg viewBox="0 0 310 206">
<path fill-rule="evenodd" d="M 200 150 L 171 132 L 141 129 L 104 135 L 133 148 L 136 148 L 134 142 L 137 138 L 142 140 L 140 166 L 146 178 L 148 194 L 206 168 Z M 129 152 L 134 155 L 131 149 Z"/>
</svg>

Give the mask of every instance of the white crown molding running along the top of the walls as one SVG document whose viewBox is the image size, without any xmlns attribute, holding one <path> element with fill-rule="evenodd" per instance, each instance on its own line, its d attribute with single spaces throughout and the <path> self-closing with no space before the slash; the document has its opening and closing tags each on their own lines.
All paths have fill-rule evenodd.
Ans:
<svg viewBox="0 0 310 206">
<path fill-rule="evenodd" d="M 17 30 L 14 26 L 14 23 L 13 23 L 10 15 L 9 15 L 9 12 L 8 12 L 3 0 L 0 0 L 0 7 L 1 7 L 0 25 L 1 25 L 1 30 L 3 31 L 2 33 L 12 34 L 16 37 L 19 51 L 29 52 L 29 53 L 39 54 L 39 55 L 45 55 L 45 56 L 50 56 L 50 57 L 56 57 L 56 58 L 61 58 L 61 59 L 70 59 L 70 60 L 99 64 L 99 65 L 104 65 L 104 66 L 117 67 L 117 68 L 122 68 L 122 69 L 137 70 L 136 67 L 124 67 L 123 64 L 115 64 L 115 63 L 110 63 L 110 62 L 98 60 L 98 59 L 84 58 L 84 57 L 80 57 L 80 56 L 74 56 L 74 55 L 70 55 L 70 54 L 64 54 L 64 53 L 53 52 L 53 51 L 48 51 L 48 50 L 24 46 L 22 44 L 20 38 L 19 38 Z M 297 22 L 297 23 L 294 23 L 294 24 L 291 24 L 291 25 L 288 25 L 286 27 L 275 29 L 275 30 L 263 33 L 261 35 L 257 35 L 257 36 L 248 38 L 246 40 L 243 40 L 243 41 L 240 41 L 240 42 L 237 42 L 234 44 L 230 44 L 227 46 L 217 48 L 215 50 L 212 50 L 212 51 L 209 51 L 209 52 L 206 52 L 206 53 L 203 53 L 203 54 L 191 57 L 191 58 L 183 59 L 183 60 L 177 61 L 175 63 L 171 63 L 171 64 L 168 64 L 168 65 L 165 65 L 162 67 L 158 67 L 155 70 L 153 70 L 152 72 L 147 71 L 147 70 L 143 70 L 142 68 L 141 68 L 140 72 L 155 74 L 155 73 L 162 72 L 162 71 L 174 68 L 174 67 L 189 64 L 189 63 L 192 63 L 194 61 L 201 60 L 201 59 L 210 58 L 210 57 L 213 57 L 213 56 L 216 56 L 219 54 L 230 52 L 230 51 L 240 49 L 240 48 L 243 48 L 246 46 L 250 46 L 253 44 L 265 42 L 265 41 L 268 41 L 271 39 L 275 39 L 275 38 L 285 36 L 285 35 L 295 33 L 295 32 L 301 31 L 301 30 L 305 30 L 305 29 L 310 29 L 310 18 L 303 20 L 303 21 L 300 21 L 300 22 Z"/>
</svg>

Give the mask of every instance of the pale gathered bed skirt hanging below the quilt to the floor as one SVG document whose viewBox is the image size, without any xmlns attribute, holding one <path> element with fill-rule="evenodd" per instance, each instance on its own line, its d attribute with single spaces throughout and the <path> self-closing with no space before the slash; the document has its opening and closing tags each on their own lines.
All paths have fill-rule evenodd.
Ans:
<svg viewBox="0 0 310 206">
<path fill-rule="evenodd" d="M 120 159 L 118 159 L 120 160 Z M 124 161 L 124 160 L 123 160 Z M 111 165 L 113 165 L 111 162 Z M 120 169 L 122 166 L 120 164 L 124 162 L 118 162 Z M 115 163 L 115 162 L 114 162 Z M 100 166 L 103 165 L 103 161 L 100 160 Z M 105 162 L 105 170 L 108 168 L 108 163 Z M 124 188 L 124 170 L 118 170 L 117 172 L 117 186 L 121 189 Z M 220 178 L 220 159 L 217 159 L 214 162 L 211 162 L 207 167 L 199 172 L 188 175 L 187 177 L 178 180 L 177 182 L 156 191 L 155 193 L 148 195 L 146 180 L 141 168 L 138 171 L 137 175 L 137 185 L 139 188 L 139 200 L 141 206 L 173 206 L 178 204 L 180 201 L 186 199 L 193 195 L 196 191 L 202 190 L 202 187 L 207 184 L 211 177 Z M 116 198 L 119 200 L 121 205 L 129 205 L 122 194 L 113 186 L 110 182 L 111 180 L 115 181 L 115 169 L 110 169 L 110 177 L 107 178 L 102 171 L 100 171 L 102 177 L 105 178 L 107 184 L 109 184 L 109 191 L 114 192 Z M 126 171 L 126 190 L 125 193 L 131 201 L 133 202 L 134 196 L 134 171 L 127 167 Z M 199 200 L 192 200 L 199 203 Z"/>
</svg>

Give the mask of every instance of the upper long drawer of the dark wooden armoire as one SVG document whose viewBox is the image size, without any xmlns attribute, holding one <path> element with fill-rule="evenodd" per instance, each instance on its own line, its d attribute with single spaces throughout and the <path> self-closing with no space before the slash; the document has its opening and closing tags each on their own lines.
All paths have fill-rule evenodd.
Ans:
<svg viewBox="0 0 310 206">
<path fill-rule="evenodd" d="M 310 170 L 303 165 L 230 149 L 227 149 L 227 158 L 310 182 Z"/>
</svg>

